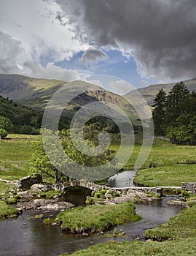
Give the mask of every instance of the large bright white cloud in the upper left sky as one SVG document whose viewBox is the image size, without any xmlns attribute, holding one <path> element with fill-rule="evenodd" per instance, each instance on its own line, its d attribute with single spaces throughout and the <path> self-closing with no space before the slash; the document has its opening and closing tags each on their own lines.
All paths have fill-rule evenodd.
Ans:
<svg viewBox="0 0 196 256">
<path fill-rule="evenodd" d="M 76 38 L 55 1 L 1 1 L 0 72 L 70 80 L 77 78 L 78 72 L 60 69 L 54 63 L 69 60 L 88 47 Z"/>
</svg>

